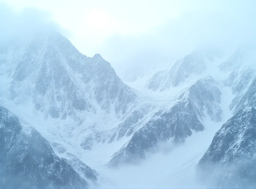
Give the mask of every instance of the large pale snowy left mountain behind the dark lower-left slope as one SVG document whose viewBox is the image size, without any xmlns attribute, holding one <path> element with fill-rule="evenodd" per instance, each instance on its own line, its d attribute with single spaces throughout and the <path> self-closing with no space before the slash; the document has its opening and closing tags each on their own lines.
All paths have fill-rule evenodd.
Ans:
<svg viewBox="0 0 256 189">
<path fill-rule="evenodd" d="M 65 158 L 60 159 L 86 185 L 87 182 L 97 185 L 98 178 L 108 180 L 85 165 L 86 161 L 77 158 L 77 154 L 73 155 L 76 153 L 73 149 L 77 147 L 77 138 L 88 138 L 81 130 L 89 130 L 90 121 L 108 131 L 104 118 L 117 125 L 135 103 L 135 93 L 117 77 L 111 65 L 99 54 L 92 58 L 82 55 L 67 38 L 53 32 L 1 46 L 0 68 L 0 98 L 10 105 L 8 108 L 33 125 L 33 132 L 42 134 L 42 140 L 49 141 L 56 154 Z M 101 132 L 98 141 L 104 140 L 105 130 L 93 131 L 95 135 Z M 26 143 L 20 147 L 26 147 Z"/>
</svg>

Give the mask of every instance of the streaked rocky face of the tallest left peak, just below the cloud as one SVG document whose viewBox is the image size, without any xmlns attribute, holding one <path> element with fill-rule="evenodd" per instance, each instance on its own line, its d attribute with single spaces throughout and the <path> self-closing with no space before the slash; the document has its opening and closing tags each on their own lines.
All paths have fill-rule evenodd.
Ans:
<svg viewBox="0 0 256 189">
<path fill-rule="evenodd" d="M 20 48 L 22 53 L 14 51 L 9 63 L 15 65 L 9 87 L 11 100 L 20 103 L 30 96 L 36 110 L 54 118 L 75 116 L 76 110 L 92 110 L 87 94 L 80 91 L 69 72 L 83 55 L 67 38 L 57 33 L 42 35 Z"/>
</svg>

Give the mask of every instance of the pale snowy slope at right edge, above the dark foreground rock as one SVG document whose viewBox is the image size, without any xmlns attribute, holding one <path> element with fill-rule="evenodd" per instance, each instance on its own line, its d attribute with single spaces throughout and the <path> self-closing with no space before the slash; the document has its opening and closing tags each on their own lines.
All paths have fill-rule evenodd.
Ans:
<svg viewBox="0 0 256 189">
<path fill-rule="evenodd" d="M 236 51 L 220 64 L 222 72 L 227 73 L 228 77 L 224 80 L 224 85 L 232 88 L 235 95 L 230 110 L 237 113 L 246 106 L 256 104 L 256 59 L 253 56 L 255 49 L 248 51 L 236 49 Z"/>
</svg>

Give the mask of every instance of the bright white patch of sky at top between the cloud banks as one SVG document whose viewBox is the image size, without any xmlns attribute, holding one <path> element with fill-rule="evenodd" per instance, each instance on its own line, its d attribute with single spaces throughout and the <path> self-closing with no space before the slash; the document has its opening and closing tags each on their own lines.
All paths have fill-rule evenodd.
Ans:
<svg viewBox="0 0 256 189">
<path fill-rule="evenodd" d="M 141 36 L 184 12 L 218 8 L 204 0 L 3 0 L 15 10 L 49 11 L 53 20 L 68 29 L 71 41 L 88 56 L 97 53 L 113 35 Z M 215 6 L 215 7 L 214 7 Z M 221 9 L 221 7 L 219 7 Z"/>
</svg>

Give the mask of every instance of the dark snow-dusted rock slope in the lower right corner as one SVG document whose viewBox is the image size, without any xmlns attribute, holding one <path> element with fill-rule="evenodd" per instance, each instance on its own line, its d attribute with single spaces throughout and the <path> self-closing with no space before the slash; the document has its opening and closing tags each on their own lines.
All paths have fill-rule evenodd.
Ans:
<svg viewBox="0 0 256 189">
<path fill-rule="evenodd" d="M 256 110 L 238 111 L 215 134 L 197 165 L 198 178 L 220 188 L 250 188 L 256 184 Z"/>
</svg>

